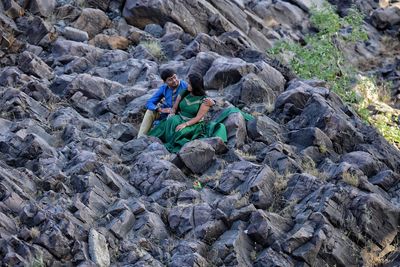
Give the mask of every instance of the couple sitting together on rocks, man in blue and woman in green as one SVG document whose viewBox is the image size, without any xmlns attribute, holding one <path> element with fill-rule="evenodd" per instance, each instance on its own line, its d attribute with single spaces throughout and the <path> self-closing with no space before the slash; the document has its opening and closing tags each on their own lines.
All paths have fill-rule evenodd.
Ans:
<svg viewBox="0 0 400 267">
<path fill-rule="evenodd" d="M 147 101 L 147 111 L 138 137 L 146 134 L 158 137 L 172 153 L 178 152 L 189 141 L 206 137 L 220 137 L 227 141 L 224 121 L 237 108 L 225 109 L 213 121 L 204 122 L 204 116 L 215 103 L 207 97 L 200 74 L 189 74 L 189 84 L 179 80 L 176 73 L 166 69 L 161 73 L 165 82 Z M 163 103 L 162 103 L 163 101 Z M 246 119 L 251 117 L 246 114 Z M 153 123 L 158 123 L 150 130 Z"/>
</svg>

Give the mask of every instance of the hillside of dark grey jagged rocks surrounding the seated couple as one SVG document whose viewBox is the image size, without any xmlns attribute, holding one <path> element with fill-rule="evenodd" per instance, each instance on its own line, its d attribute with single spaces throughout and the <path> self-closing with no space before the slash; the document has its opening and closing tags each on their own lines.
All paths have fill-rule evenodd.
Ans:
<svg viewBox="0 0 400 267">
<path fill-rule="evenodd" d="M 397 4 L 331 2 L 368 14 L 348 52 L 398 85 Z M 265 54 L 322 3 L 2 1 L 2 266 L 398 266 L 399 150 Z M 255 119 L 177 155 L 136 139 L 167 67 L 203 74 L 209 119 Z"/>
</svg>

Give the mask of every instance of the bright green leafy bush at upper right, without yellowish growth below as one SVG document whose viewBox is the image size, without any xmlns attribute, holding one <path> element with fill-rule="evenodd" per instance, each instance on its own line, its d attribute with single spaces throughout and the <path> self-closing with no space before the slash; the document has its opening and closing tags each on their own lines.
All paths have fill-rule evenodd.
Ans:
<svg viewBox="0 0 400 267">
<path fill-rule="evenodd" d="M 288 63 L 300 77 L 325 80 L 345 101 L 357 102 L 351 90 L 356 71 L 346 62 L 341 45 L 367 39 L 362 29 L 363 15 L 353 8 L 349 16 L 340 18 L 333 7 L 326 4 L 321 9 L 311 10 L 310 21 L 317 33 L 305 37 L 306 45 L 280 42 L 269 53 L 281 59 L 288 56 Z"/>
</svg>

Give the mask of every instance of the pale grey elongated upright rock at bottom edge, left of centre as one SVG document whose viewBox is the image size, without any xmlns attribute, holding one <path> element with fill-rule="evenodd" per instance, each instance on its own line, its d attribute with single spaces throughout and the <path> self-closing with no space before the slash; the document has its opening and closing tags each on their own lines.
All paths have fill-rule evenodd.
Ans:
<svg viewBox="0 0 400 267">
<path fill-rule="evenodd" d="M 94 228 L 89 232 L 89 254 L 90 258 L 100 267 L 110 266 L 110 254 L 108 252 L 105 237 Z"/>
</svg>

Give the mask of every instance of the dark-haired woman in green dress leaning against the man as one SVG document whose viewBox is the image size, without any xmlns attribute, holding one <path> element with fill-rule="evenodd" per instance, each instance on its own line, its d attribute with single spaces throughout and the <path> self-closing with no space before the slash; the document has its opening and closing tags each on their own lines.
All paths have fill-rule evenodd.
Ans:
<svg viewBox="0 0 400 267">
<path fill-rule="evenodd" d="M 188 89 L 181 95 L 179 113 L 160 122 L 149 135 L 160 138 L 172 153 L 178 152 L 187 142 L 202 137 L 218 136 L 226 142 L 226 128 L 222 123 L 207 125 L 203 121 L 210 108 L 203 103 L 206 97 L 202 76 L 190 74 Z"/>
</svg>

